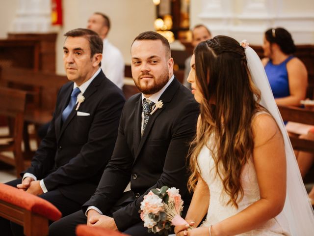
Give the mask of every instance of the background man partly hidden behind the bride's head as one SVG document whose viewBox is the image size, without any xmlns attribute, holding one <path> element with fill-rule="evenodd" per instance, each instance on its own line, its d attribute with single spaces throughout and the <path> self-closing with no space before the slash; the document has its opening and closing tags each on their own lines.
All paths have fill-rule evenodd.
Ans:
<svg viewBox="0 0 314 236">
<path fill-rule="evenodd" d="M 204 26 L 204 25 L 196 25 L 192 29 L 192 45 L 195 48 L 200 42 L 206 41 L 208 39 L 211 39 L 211 33 L 209 29 Z M 183 85 L 191 89 L 191 84 L 186 81 L 188 74 L 190 73 L 190 62 L 191 62 L 191 57 L 188 57 L 185 62 L 185 69 L 184 69 L 184 80 L 183 80 Z"/>
</svg>

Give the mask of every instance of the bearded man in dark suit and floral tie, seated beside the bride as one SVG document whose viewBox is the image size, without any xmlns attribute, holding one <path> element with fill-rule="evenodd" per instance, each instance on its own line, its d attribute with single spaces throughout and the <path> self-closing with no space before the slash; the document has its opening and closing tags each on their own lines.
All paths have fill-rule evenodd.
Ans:
<svg viewBox="0 0 314 236">
<path fill-rule="evenodd" d="M 142 93 L 124 106 L 117 142 L 95 194 L 83 211 L 54 222 L 51 236 L 75 235 L 76 225 L 86 223 L 150 235 L 140 219 L 140 203 L 152 188 L 163 185 L 179 188 L 185 204 L 190 202 L 186 156 L 199 107 L 173 75 L 166 38 L 153 31 L 141 33 L 132 43 L 131 60 L 132 77 Z M 130 180 L 131 191 L 124 192 Z"/>
</svg>

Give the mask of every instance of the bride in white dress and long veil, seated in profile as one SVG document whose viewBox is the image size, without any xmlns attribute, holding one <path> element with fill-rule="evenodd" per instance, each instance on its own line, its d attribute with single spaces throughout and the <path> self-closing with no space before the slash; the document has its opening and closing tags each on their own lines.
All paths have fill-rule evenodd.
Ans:
<svg viewBox="0 0 314 236">
<path fill-rule="evenodd" d="M 262 63 L 242 46 L 216 36 L 192 56 L 187 81 L 201 106 L 185 217 L 192 229 L 177 226 L 175 233 L 314 235 L 313 209 Z"/>
</svg>

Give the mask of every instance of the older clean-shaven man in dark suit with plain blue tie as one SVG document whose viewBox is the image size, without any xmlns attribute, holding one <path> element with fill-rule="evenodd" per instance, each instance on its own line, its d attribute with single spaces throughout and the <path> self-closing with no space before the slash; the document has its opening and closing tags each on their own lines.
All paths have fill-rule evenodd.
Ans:
<svg viewBox="0 0 314 236">
<path fill-rule="evenodd" d="M 71 82 L 58 93 L 50 128 L 31 167 L 7 183 L 48 200 L 63 216 L 79 210 L 95 192 L 125 103 L 121 89 L 100 68 L 103 40 L 98 34 L 74 29 L 65 36 L 63 61 Z M 1 231 L 3 224 L 0 219 Z"/>
</svg>

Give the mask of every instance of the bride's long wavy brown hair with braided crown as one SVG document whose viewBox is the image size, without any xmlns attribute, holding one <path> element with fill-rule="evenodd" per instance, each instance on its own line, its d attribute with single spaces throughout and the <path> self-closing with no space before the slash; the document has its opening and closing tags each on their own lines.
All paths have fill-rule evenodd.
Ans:
<svg viewBox="0 0 314 236">
<path fill-rule="evenodd" d="M 260 91 L 250 79 L 244 48 L 235 39 L 216 36 L 200 43 L 194 55 L 196 83 L 203 99 L 197 136 L 190 149 L 188 188 L 193 191 L 196 186 L 197 156 L 206 145 L 230 196 L 227 204 L 237 207 L 243 197 L 242 167 L 254 148 L 252 118 L 263 110 L 259 105 Z M 213 146 L 208 144 L 211 136 Z"/>
</svg>

